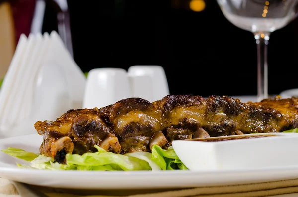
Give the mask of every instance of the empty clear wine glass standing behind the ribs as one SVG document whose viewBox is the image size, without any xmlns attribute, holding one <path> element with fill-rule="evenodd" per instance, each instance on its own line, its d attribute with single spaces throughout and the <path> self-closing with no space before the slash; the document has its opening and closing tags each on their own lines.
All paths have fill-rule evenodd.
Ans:
<svg viewBox="0 0 298 197">
<path fill-rule="evenodd" d="M 254 34 L 257 44 L 257 100 L 268 98 L 267 45 L 270 33 L 297 16 L 298 0 L 217 0 L 224 16 Z"/>
</svg>

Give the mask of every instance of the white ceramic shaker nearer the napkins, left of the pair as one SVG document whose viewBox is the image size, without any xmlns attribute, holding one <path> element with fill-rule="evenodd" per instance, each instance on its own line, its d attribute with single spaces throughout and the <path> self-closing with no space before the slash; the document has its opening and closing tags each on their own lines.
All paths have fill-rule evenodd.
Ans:
<svg viewBox="0 0 298 197">
<path fill-rule="evenodd" d="M 96 68 L 90 70 L 87 77 L 83 108 L 101 108 L 130 97 L 130 82 L 125 69 Z"/>
</svg>

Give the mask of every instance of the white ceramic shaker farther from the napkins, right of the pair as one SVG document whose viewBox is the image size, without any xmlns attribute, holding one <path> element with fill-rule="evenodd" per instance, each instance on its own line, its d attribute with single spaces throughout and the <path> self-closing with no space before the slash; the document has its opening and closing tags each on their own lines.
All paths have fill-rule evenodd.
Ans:
<svg viewBox="0 0 298 197">
<path fill-rule="evenodd" d="M 128 69 L 132 97 L 154 102 L 169 94 L 168 82 L 162 66 L 135 65 Z"/>
</svg>

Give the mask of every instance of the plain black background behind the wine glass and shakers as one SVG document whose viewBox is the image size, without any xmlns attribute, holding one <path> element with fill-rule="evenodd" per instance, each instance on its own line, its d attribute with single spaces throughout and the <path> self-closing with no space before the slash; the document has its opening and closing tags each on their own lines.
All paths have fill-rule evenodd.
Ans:
<svg viewBox="0 0 298 197">
<path fill-rule="evenodd" d="M 170 94 L 254 95 L 252 33 L 232 25 L 215 0 L 201 12 L 189 0 L 69 0 L 74 60 L 98 67 L 163 66 Z M 46 9 L 43 31 L 57 29 Z M 269 94 L 298 88 L 298 21 L 271 34 Z"/>
</svg>

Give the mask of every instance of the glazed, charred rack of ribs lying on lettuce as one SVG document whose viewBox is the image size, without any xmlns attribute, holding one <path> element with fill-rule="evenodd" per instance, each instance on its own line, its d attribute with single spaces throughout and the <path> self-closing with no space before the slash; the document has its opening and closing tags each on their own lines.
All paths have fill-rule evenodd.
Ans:
<svg viewBox="0 0 298 197">
<path fill-rule="evenodd" d="M 118 154 L 150 152 L 153 145 L 167 149 L 173 140 L 293 129 L 298 98 L 257 103 L 226 96 L 168 95 L 153 103 L 127 98 L 100 109 L 69 110 L 34 127 L 43 136 L 40 153 L 65 163 L 67 153 L 95 152 L 94 145 Z"/>
</svg>

